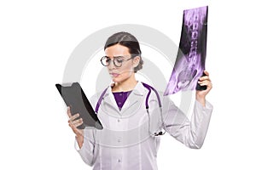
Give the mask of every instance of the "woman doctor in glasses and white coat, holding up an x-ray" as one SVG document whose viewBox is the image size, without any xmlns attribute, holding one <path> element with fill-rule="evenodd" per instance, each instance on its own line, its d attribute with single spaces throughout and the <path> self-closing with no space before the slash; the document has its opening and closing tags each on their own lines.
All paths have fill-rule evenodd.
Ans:
<svg viewBox="0 0 256 170">
<path fill-rule="evenodd" d="M 137 38 L 127 32 L 109 37 L 102 65 L 107 66 L 113 83 L 103 93 L 96 94 L 91 104 L 96 107 L 103 129 L 80 130 L 79 113 L 71 116 L 69 126 L 76 135 L 76 149 L 83 161 L 93 169 L 157 169 L 157 151 L 161 130 L 189 148 L 199 149 L 207 134 L 212 105 L 206 95 L 212 88 L 209 74 L 199 83 L 207 90 L 196 91 L 191 121 L 168 96 L 154 92 L 135 73 L 143 60 Z"/>
</svg>

